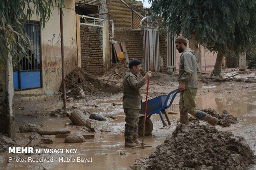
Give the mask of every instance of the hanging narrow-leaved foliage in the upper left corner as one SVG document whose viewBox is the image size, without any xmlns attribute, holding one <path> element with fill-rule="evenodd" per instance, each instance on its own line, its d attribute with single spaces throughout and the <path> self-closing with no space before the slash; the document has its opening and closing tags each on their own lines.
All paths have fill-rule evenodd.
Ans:
<svg viewBox="0 0 256 170">
<path fill-rule="evenodd" d="M 28 57 L 31 42 L 24 33 L 24 24 L 32 16 L 44 27 L 55 7 L 62 8 L 64 0 L 1 0 L 0 1 L 0 66 L 12 56 L 13 63 Z"/>
</svg>

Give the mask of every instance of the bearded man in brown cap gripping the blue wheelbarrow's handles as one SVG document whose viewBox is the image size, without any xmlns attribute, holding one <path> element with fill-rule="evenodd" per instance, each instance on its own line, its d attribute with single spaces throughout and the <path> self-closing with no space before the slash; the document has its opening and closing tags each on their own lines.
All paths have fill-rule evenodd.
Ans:
<svg viewBox="0 0 256 170">
<path fill-rule="evenodd" d="M 179 67 L 179 90 L 180 93 L 180 123 L 189 124 L 188 114 L 190 113 L 197 119 L 208 121 L 211 125 L 215 125 L 218 121 L 217 118 L 196 109 L 195 98 L 197 95 L 197 60 L 189 47 L 187 47 L 187 40 L 183 37 L 179 37 L 175 40 L 176 49 L 180 56 L 180 67 Z"/>
</svg>

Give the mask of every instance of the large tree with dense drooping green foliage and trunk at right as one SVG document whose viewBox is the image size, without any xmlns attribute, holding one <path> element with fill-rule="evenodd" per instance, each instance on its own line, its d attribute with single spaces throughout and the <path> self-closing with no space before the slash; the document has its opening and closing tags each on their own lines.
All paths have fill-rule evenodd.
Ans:
<svg viewBox="0 0 256 170">
<path fill-rule="evenodd" d="M 256 44 L 256 0 L 149 0 L 171 33 L 218 52 L 214 75 L 226 51 L 247 52 Z"/>
</svg>

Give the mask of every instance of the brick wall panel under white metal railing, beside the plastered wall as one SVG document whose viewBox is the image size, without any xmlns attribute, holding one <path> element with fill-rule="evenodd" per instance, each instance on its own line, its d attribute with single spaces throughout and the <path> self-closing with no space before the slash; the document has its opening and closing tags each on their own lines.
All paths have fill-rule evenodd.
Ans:
<svg viewBox="0 0 256 170">
<path fill-rule="evenodd" d="M 103 75 L 102 28 L 81 26 L 82 68 L 93 75 Z"/>
</svg>

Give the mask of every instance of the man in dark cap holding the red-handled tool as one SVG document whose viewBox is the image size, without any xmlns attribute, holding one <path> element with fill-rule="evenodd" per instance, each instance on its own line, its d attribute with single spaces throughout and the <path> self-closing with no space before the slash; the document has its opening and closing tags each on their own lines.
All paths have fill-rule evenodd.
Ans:
<svg viewBox="0 0 256 170">
<path fill-rule="evenodd" d="M 135 147 L 141 142 L 138 140 L 138 122 L 139 111 L 141 108 L 141 96 L 139 89 L 145 84 L 147 79 L 152 77 L 149 71 L 140 80 L 137 75 L 142 70 L 139 60 L 131 60 L 129 63 L 130 71 L 126 73 L 123 79 L 123 110 L 126 114 L 126 125 L 124 128 L 125 147 Z"/>
</svg>

